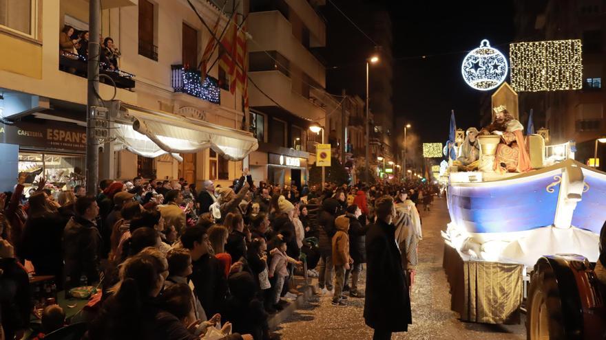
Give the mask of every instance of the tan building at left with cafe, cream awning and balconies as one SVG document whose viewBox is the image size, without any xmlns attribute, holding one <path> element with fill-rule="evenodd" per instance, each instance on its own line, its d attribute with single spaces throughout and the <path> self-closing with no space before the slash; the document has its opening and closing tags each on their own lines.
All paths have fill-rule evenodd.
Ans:
<svg viewBox="0 0 606 340">
<path fill-rule="evenodd" d="M 217 32 L 228 24 L 233 10 L 242 14 L 236 20 L 241 21 L 244 14 L 244 5 L 226 10 L 211 1 L 192 2 L 209 27 L 218 27 Z M 111 123 L 111 135 L 100 139 L 100 177 L 182 177 L 189 183 L 213 179 L 229 185 L 240 176 L 246 159 L 227 158 L 242 159 L 256 148 L 257 141 L 242 131 L 242 91 L 229 91 L 229 74 L 215 63 L 208 77 L 200 76 L 198 63 L 211 39 L 209 30 L 185 0 L 104 0 L 101 4 L 100 38 L 111 37 L 120 56 L 115 67 L 102 65 L 98 95 L 107 106 L 111 99 L 122 106 Z M 69 37 L 73 40 L 78 32 L 88 30 L 89 2 L 20 0 L 0 1 L 0 6 L 4 47 L 0 54 L 0 158 L 8 161 L 0 183 L 12 186 L 18 171 L 43 174 L 56 185 L 70 178 L 81 181 L 85 175 L 87 52 L 82 58 L 78 49 L 60 47 L 60 42 L 67 41 L 62 32 L 65 25 L 73 27 Z M 219 53 L 217 47 L 209 64 Z M 156 142 L 141 138 L 143 126 L 144 134 Z M 200 133 L 231 139 L 229 145 L 211 143 L 208 148 L 198 143 Z M 241 145 L 246 150 L 235 149 Z M 227 158 L 221 157 L 223 153 Z"/>
</svg>

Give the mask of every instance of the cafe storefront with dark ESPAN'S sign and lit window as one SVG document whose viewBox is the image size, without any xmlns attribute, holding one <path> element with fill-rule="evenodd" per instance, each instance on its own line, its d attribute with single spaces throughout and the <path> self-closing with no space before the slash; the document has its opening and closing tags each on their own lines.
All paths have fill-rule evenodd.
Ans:
<svg viewBox="0 0 606 340">
<path fill-rule="evenodd" d="M 41 119 L 0 124 L 0 190 L 12 191 L 19 172 L 29 174 L 26 187 L 41 177 L 55 190 L 83 184 L 85 150 L 86 129 L 78 124 Z"/>
</svg>

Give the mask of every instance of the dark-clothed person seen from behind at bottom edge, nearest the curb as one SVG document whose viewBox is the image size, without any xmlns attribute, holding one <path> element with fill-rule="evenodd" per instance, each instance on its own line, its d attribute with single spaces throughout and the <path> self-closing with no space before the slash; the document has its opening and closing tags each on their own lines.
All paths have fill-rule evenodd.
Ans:
<svg viewBox="0 0 606 340">
<path fill-rule="evenodd" d="M 255 340 L 269 339 L 267 313 L 257 299 L 256 284 L 247 271 L 229 277 L 231 297 L 223 308 L 222 317 L 230 321 L 233 331 L 250 334 Z"/>
</svg>

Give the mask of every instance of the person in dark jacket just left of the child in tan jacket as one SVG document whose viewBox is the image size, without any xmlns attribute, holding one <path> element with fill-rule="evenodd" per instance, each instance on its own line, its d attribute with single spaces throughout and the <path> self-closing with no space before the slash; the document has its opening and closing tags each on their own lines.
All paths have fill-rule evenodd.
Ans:
<svg viewBox="0 0 606 340">
<path fill-rule="evenodd" d="M 322 262 L 318 265 L 318 287 L 324 294 L 333 291 L 333 246 L 331 240 L 335 235 L 337 209 L 339 209 L 339 203 L 329 197 L 322 201 L 322 212 L 317 217 L 320 236 L 318 246 L 322 258 Z"/>
</svg>

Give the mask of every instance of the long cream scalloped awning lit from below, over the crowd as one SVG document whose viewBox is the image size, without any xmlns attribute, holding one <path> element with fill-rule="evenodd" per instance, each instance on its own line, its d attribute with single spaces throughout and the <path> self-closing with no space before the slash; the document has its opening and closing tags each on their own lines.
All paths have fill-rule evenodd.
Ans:
<svg viewBox="0 0 606 340">
<path fill-rule="evenodd" d="M 116 139 L 122 138 L 125 148 L 135 150 L 138 155 L 155 157 L 154 155 L 165 152 L 195 153 L 211 148 L 225 159 L 239 161 L 259 147 L 257 139 L 251 133 L 235 128 L 130 104 L 122 104 L 121 107 L 127 110 L 127 116 L 134 118 L 134 134 L 116 131 Z M 145 139 L 140 138 L 143 136 L 137 134 L 147 137 L 159 150 L 145 143 Z M 160 153 L 160 150 L 164 152 Z"/>
</svg>

